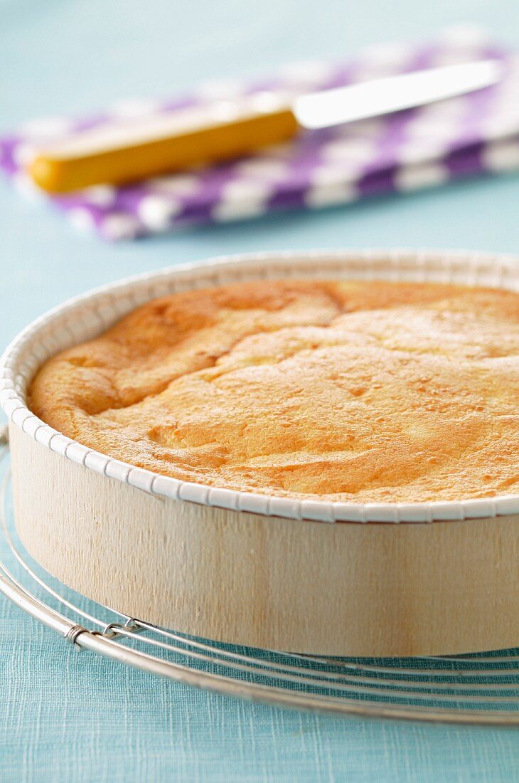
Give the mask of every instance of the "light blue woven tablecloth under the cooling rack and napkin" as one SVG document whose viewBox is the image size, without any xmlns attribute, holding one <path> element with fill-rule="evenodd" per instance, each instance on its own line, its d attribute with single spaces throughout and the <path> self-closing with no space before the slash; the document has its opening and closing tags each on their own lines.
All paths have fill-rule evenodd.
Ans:
<svg viewBox="0 0 519 783">
<path fill-rule="evenodd" d="M 0 0 L 2 126 L 427 37 L 467 16 L 519 45 L 517 0 Z M 517 251 L 517 193 L 510 176 L 109 246 L 2 186 L 0 344 L 72 294 L 214 254 L 367 245 Z M 517 780 L 519 733 L 342 721 L 206 695 L 76 655 L 0 600 L 2 783 L 296 779 Z"/>
</svg>

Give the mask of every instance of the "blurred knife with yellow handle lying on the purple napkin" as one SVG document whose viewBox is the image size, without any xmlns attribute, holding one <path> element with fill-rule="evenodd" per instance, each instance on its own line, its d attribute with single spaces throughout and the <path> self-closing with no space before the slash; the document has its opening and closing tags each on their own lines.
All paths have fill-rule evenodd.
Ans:
<svg viewBox="0 0 519 783">
<path fill-rule="evenodd" d="M 499 60 L 431 68 L 288 100 L 258 92 L 140 120 L 112 121 L 38 150 L 27 171 L 49 193 L 120 185 L 240 157 L 305 129 L 378 117 L 496 84 Z"/>
</svg>

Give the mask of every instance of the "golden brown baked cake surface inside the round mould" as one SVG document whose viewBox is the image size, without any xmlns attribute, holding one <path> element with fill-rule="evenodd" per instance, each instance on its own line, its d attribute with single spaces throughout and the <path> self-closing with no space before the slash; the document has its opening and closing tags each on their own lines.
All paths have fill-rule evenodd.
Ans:
<svg viewBox="0 0 519 783">
<path fill-rule="evenodd" d="M 30 400 L 91 449 L 206 485 L 519 493 L 519 294 L 308 280 L 176 294 L 50 359 Z"/>
</svg>

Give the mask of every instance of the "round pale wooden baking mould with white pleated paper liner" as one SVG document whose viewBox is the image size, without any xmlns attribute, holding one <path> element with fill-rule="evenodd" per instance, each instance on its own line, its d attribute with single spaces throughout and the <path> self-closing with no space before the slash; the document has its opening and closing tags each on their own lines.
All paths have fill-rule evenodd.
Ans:
<svg viewBox="0 0 519 783">
<path fill-rule="evenodd" d="M 519 643 L 519 496 L 330 503 L 234 492 L 95 452 L 27 408 L 38 366 L 152 298 L 241 280 L 414 280 L 519 290 L 510 257 L 255 254 L 99 288 L 32 323 L 0 364 L 16 527 L 64 583 L 194 636 L 320 655 L 436 655 Z"/>
</svg>

